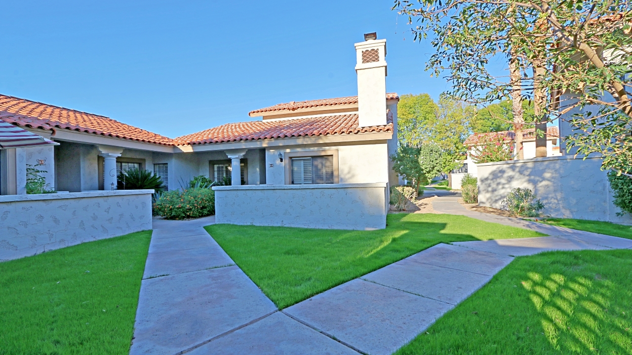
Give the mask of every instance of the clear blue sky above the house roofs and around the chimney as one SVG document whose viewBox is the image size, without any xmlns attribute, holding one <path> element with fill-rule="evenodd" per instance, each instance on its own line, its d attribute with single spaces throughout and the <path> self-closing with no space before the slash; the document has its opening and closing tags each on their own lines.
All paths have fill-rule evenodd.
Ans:
<svg viewBox="0 0 632 355">
<path fill-rule="evenodd" d="M 389 92 L 448 88 L 391 1 L 8 1 L 0 93 L 176 137 L 281 102 L 356 95 L 363 33 L 387 39 Z"/>
</svg>

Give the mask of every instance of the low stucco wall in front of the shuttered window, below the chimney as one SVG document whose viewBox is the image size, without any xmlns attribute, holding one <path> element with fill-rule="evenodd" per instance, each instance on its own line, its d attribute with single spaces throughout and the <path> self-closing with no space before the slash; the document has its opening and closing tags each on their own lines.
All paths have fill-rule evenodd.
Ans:
<svg viewBox="0 0 632 355">
<path fill-rule="evenodd" d="M 215 186 L 217 223 L 386 228 L 386 183 Z"/>
</svg>

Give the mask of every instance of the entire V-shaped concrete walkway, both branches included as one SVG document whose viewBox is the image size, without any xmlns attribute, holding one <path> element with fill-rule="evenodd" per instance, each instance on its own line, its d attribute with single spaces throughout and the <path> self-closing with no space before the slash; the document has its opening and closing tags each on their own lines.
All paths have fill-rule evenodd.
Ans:
<svg viewBox="0 0 632 355">
<path fill-rule="evenodd" d="M 435 203 L 487 218 L 459 209 L 454 195 Z M 438 244 L 279 311 L 204 231 L 213 222 L 154 221 L 130 354 L 391 354 L 514 256 L 632 248 L 630 239 L 503 219 L 552 236 Z"/>
</svg>

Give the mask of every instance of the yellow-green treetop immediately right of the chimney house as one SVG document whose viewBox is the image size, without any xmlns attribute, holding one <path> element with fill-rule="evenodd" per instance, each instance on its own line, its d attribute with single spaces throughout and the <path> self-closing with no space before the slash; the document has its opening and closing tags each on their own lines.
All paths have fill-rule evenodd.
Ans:
<svg viewBox="0 0 632 355">
<path fill-rule="evenodd" d="M 425 127 L 434 119 L 437 109 L 437 104 L 427 93 L 401 95 L 397 109 L 399 142 L 418 147 L 426 140 L 423 136 Z"/>
</svg>

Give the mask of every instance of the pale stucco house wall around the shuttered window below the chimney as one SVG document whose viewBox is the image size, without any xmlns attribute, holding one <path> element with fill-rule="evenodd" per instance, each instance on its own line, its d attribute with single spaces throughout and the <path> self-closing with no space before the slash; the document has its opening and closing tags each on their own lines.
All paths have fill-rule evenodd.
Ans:
<svg viewBox="0 0 632 355">
<path fill-rule="evenodd" d="M 285 164 L 279 162 L 279 152 L 308 152 L 319 150 L 338 151 L 338 176 L 341 184 L 386 183 L 389 181 L 389 157 L 386 143 L 362 145 L 337 145 L 321 147 L 279 147 L 265 151 L 266 183 L 285 184 Z M 272 167 L 270 167 L 272 164 Z"/>
</svg>

